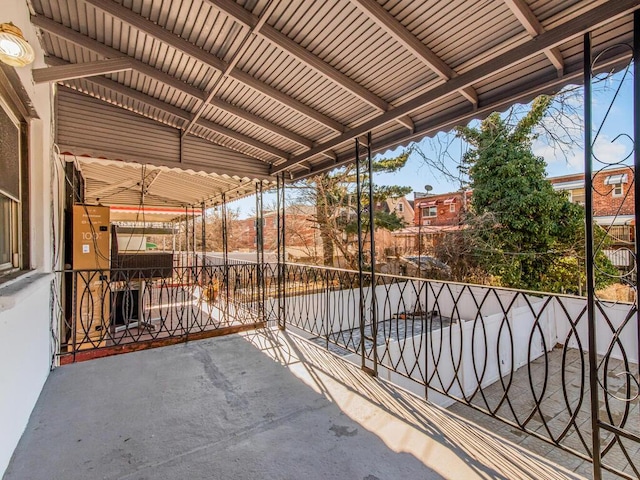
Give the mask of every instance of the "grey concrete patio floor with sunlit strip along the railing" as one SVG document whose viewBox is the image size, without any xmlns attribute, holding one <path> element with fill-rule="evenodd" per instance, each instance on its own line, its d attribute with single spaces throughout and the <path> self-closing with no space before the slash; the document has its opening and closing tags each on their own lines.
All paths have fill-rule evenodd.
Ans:
<svg viewBox="0 0 640 480">
<path fill-rule="evenodd" d="M 13 479 L 578 479 L 294 335 L 53 371 Z"/>
</svg>

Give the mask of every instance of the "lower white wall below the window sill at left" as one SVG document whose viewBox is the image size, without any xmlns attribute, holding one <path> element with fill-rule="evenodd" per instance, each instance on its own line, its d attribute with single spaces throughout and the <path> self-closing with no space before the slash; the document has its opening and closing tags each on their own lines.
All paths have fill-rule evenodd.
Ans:
<svg viewBox="0 0 640 480">
<path fill-rule="evenodd" d="M 49 375 L 51 279 L 0 289 L 0 477 Z"/>
</svg>

